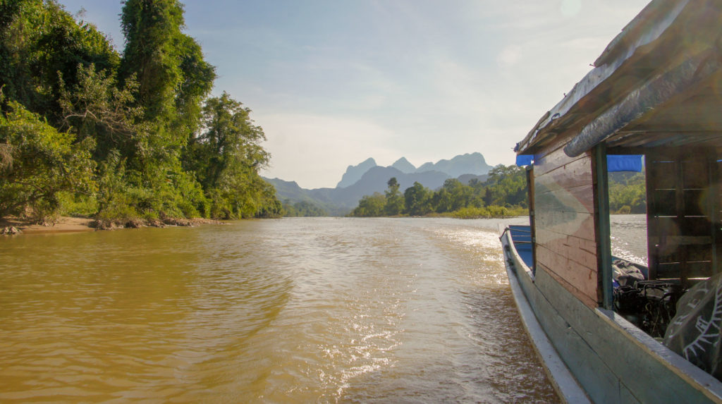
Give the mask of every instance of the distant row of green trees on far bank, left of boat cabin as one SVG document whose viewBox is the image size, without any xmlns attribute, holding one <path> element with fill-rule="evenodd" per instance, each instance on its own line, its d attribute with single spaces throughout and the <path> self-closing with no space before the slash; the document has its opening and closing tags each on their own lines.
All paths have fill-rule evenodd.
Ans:
<svg viewBox="0 0 722 404">
<path fill-rule="evenodd" d="M 516 166 L 494 167 L 483 183 L 471 180 L 464 185 L 450 178 L 435 191 L 414 183 L 401 193 L 396 178 L 391 178 L 387 185 L 386 193 L 362 197 L 350 215 L 490 217 L 527 212 L 526 175 L 523 168 Z"/>
</svg>

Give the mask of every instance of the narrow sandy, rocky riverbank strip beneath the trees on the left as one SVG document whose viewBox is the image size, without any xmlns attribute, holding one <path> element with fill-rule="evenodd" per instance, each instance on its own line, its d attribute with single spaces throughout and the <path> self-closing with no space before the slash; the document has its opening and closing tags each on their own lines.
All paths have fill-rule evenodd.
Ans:
<svg viewBox="0 0 722 404">
<path fill-rule="evenodd" d="M 95 230 L 113 229 L 135 229 L 139 227 L 168 227 L 185 226 L 193 227 L 201 224 L 223 224 L 222 221 L 212 219 L 173 219 L 146 221 L 136 219 L 125 224 L 105 224 L 91 217 L 60 216 L 54 223 L 35 224 L 28 219 L 17 216 L 9 216 L 0 219 L 0 230 L 3 234 L 43 234 L 43 233 L 71 233 L 71 232 L 93 232 Z M 17 230 L 14 231 L 13 229 Z"/>
</svg>

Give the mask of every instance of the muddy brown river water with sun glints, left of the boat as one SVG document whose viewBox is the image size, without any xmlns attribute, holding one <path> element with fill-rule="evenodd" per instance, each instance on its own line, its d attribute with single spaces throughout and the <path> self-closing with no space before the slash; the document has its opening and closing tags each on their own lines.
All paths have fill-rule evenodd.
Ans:
<svg viewBox="0 0 722 404">
<path fill-rule="evenodd" d="M 496 221 L 0 240 L 0 401 L 554 402 Z"/>
</svg>

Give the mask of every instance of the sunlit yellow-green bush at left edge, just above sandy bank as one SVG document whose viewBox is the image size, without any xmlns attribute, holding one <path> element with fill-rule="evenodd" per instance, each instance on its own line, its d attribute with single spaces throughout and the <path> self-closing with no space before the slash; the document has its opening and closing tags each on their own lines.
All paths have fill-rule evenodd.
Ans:
<svg viewBox="0 0 722 404">
<path fill-rule="evenodd" d="M 11 159 L 0 171 L 0 217 L 30 208 L 38 221 L 52 219 L 58 193 L 90 193 L 95 184 L 90 159 L 92 139 L 74 143 L 18 102 L 0 116 L 0 144 Z"/>
</svg>

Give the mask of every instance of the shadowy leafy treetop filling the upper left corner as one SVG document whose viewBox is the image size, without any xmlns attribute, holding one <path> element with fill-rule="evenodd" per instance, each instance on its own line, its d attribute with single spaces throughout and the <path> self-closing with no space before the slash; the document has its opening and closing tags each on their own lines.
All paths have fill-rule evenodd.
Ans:
<svg viewBox="0 0 722 404">
<path fill-rule="evenodd" d="M 94 25 L 75 22 L 53 0 L 0 4 L 0 87 L 51 123 L 60 119 L 58 74 L 74 85 L 78 66 L 114 72 L 120 56 Z"/>
</svg>

